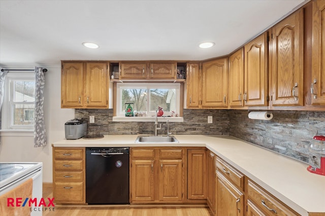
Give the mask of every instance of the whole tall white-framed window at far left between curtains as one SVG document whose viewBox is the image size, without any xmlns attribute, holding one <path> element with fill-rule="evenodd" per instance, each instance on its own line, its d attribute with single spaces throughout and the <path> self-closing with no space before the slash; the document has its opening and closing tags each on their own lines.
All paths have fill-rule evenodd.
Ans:
<svg viewBox="0 0 325 216">
<path fill-rule="evenodd" d="M 34 73 L 8 73 L 2 107 L 3 129 L 34 129 Z"/>
</svg>

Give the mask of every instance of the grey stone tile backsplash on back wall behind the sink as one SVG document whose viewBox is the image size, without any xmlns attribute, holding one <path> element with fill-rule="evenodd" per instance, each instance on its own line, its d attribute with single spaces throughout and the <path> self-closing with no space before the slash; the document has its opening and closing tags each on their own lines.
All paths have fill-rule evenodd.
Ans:
<svg viewBox="0 0 325 216">
<path fill-rule="evenodd" d="M 89 116 L 95 116 L 95 123 L 89 123 Z M 213 116 L 208 124 L 208 115 Z M 169 122 L 169 131 L 178 135 L 229 135 L 229 115 L 227 110 L 183 110 L 184 122 Z M 75 118 L 85 118 L 88 122 L 87 134 L 123 135 L 154 134 L 154 122 L 116 122 L 112 109 L 76 109 Z M 167 124 L 161 123 L 158 135 L 167 135 Z"/>
</svg>

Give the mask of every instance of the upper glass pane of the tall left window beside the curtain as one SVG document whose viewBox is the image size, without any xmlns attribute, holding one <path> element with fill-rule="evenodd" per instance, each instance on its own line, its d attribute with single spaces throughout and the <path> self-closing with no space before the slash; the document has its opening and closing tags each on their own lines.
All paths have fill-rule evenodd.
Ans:
<svg viewBox="0 0 325 216">
<path fill-rule="evenodd" d="M 34 102 L 35 101 L 35 81 L 13 82 L 14 102 Z"/>
</svg>

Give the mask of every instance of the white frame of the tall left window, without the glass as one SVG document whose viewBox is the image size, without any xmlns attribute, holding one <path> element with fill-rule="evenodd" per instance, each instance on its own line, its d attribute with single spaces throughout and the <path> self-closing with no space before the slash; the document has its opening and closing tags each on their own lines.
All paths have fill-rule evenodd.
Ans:
<svg viewBox="0 0 325 216">
<path fill-rule="evenodd" d="M 35 81 L 35 73 L 34 72 L 10 72 L 6 76 L 5 85 L 4 85 L 4 100 L 1 110 L 1 129 L 3 130 L 26 130 L 26 131 L 34 131 L 34 123 L 33 124 L 25 124 L 25 125 L 15 125 L 13 124 L 13 109 L 12 106 L 16 104 L 35 104 L 34 102 L 15 102 L 13 101 L 14 92 L 13 92 L 13 82 L 14 81 Z M 28 109 L 28 108 L 27 108 Z M 28 121 L 31 122 L 31 121 Z"/>
</svg>

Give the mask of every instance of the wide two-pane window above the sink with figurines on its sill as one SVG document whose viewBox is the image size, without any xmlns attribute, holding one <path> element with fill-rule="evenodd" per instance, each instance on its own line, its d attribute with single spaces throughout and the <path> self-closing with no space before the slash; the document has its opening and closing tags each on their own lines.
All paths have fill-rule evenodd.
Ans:
<svg viewBox="0 0 325 216">
<path fill-rule="evenodd" d="M 163 109 L 163 116 L 179 113 L 179 83 L 117 83 L 116 87 L 116 116 L 125 116 L 129 104 L 134 116 L 154 116 L 158 107 Z"/>
</svg>

